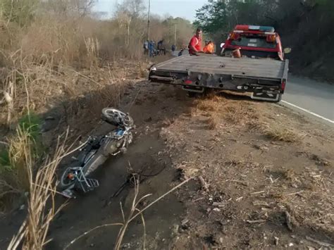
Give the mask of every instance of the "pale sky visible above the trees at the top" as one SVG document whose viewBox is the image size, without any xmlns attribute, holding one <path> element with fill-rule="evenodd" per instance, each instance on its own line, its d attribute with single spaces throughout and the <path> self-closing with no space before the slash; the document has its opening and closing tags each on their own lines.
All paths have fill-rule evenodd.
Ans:
<svg viewBox="0 0 334 250">
<path fill-rule="evenodd" d="M 115 10 L 116 2 L 123 0 L 97 0 L 94 6 L 95 11 L 108 13 L 109 18 Z M 173 17 L 187 18 L 193 21 L 196 10 L 206 4 L 207 0 L 151 0 L 151 13 L 161 16 L 172 15 Z M 144 0 L 148 7 L 149 0 Z"/>
</svg>

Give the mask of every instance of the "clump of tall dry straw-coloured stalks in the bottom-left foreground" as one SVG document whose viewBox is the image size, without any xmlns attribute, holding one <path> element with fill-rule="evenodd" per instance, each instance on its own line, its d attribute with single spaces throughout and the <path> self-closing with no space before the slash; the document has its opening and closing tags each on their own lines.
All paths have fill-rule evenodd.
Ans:
<svg viewBox="0 0 334 250">
<path fill-rule="evenodd" d="M 56 209 L 54 196 L 56 195 L 56 168 L 61 159 L 71 152 L 65 149 L 66 138 L 56 147 L 56 153 L 53 158 L 47 158 L 44 165 L 38 168 L 35 173 L 35 158 L 31 154 L 30 138 L 25 134 L 20 134 L 21 140 L 25 141 L 22 150 L 22 158 L 25 161 L 25 170 L 27 172 L 27 181 L 29 184 L 28 213 L 18 234 L 13 237 L 8 249 L 43 249 L 49 242 L 47 232 L 54 215 L 63 207 Z M 66 136 L 67 137 L 67 136 Z M 51 206 L 49 206 L 50 204 Z M 48 205 L 48 206 L 47 206 Z M 48 207 L 48 209 L 47 209 Z"/>
</svg>

